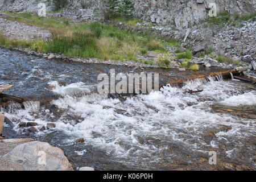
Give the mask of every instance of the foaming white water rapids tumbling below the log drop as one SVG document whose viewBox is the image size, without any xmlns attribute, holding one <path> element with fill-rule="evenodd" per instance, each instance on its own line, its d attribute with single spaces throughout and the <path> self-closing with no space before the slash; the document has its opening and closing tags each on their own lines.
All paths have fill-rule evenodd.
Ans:
<svg viewBox="0 0 256 182">
<path fill-rule="evenodd" d="M 205 151 L 205 147 L 221 148 L 226 143 L 226 157 L 230 158 L 243 146 L 247 137 L 255 137 L 255 120 L 230 114 L 215 113 L 211 105 L 256 106 L 256 92 L 242 93 L 242 85 L 234 81 L 222 81 L 221 77 L 187 82 L 183 88 L 170 85 L 160 92 L 128 97 L 125 102 L 108 98 L 105 94 L 86 94 L 91 86 L 82 82 L 60 86 L 57 81 L 52 92 L 63 98 L 53 100 L 63 114 L 56 121 L 56 130 L 71 136 L 65 144 L 85 138 L 85 143 L 99 148 L 106 154 L 118 158 L 129 158 L 154 162 L 160 160 L 162 151 L 171 143 L 179 143 L 191 151 Z M 214 81 L 220 80 L 220 81 Z M 185 89 L 200 86 L 203 92 L 189 94 Z M 74 93 L 85 93 L 76 97 Z M 38 101 L 25 104 L 26 109 L 15 110 L 5 115 L 16 121 L 15 129 L 20 132 L 18 122 L 36 122 L 46 125 L 53 114 L 40 107 Z M 71 119 L 70 116 L 77 118 Z M 230 130 L 218 130 L 228 126 Z M 217 130 L 212 140 L 205 140 L 205 131 Z M 39 132 L 43 135 L 49 131 Z M 86 150 L 76 151 L 86 155 Z M 169 154 L 170 158 L 174 154 Z M 253 162 L 252 162 L 253 163 Z"/>
</svg>

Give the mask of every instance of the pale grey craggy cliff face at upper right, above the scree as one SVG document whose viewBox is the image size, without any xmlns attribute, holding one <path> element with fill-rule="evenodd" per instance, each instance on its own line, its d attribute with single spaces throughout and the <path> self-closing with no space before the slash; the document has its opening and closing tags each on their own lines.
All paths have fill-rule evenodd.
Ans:
<svg viewBox="0 0 256 182">
<path fill-rule="evenodd" d="M 140 18 L 152 23 L 175 23 L 176 27 L 188 27 L 208 16 L 209 4 L 213 2 L 216 3 L 217 13 L 256 13 L 255 0 L 135 0 L 135 12 Z"/>
</svg>

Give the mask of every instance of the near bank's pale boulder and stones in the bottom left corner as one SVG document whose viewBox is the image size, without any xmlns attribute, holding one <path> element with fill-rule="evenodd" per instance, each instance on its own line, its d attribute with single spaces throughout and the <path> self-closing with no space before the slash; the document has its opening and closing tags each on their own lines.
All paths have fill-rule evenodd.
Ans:
<svg viewBox="0 0 256 182">
<path fill-rule="evenodd" d="M 60 148 L 31 138 L 2 137 L 4 123 L 5 117 L 0 114 L 0 171 L 73 171 Z M 94 169 L 81 167 L 79 171 Z"/>
</svg>

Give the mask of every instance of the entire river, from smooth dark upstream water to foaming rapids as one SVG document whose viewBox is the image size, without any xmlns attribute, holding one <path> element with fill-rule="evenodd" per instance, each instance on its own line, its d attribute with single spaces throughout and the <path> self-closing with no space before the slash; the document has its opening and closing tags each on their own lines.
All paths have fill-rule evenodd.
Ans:
<svg viewBox="0 0 256 182">
<path fill-rule="evenodd" d="M 0 108 L 14 123 L 5 125 L 5 134 L 60 147 L 75 168 L 256 169 L 256 92 L 250 84 L 209 78 L 119 100 L 93 92 L 98 73 L 109 73 L 111 65 L 47 60 L 5 49 L 0 49 L 0 63 L 0 84 L 15 85 L 7 93 L 27 98 L 24 108 Z M 160 73 L 162 81 L 176 76 L 164 69 L 143 72 Z M 203 92 L 184 91 L 198 85 Z M 20 122 L 36 122 L 38 128 L 54 122 L 56 129 L 30 134 Z M 77 143 L 81 137 L 85 142 Z M 216 165 L 209 164 L 209 151 L 217 152 Z"/>
</svg>

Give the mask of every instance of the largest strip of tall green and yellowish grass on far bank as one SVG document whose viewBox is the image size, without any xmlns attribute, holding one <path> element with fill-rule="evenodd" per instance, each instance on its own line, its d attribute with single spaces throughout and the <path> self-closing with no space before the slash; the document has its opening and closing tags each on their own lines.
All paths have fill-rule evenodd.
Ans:
<svg viewBox="0 0 256 182">
<path fill-rule="evenodd" d="M 150 33 L 136 33 L 121 30 L 101 23 L 73 23 L 63 18 L 39 17 L 31 13 L 9 13 L 10 20 L 31 26 L 43 27 L 52 33 L 52 39 L 43 42 L 35 40 L 29 45 L 34 51 L 45 53 L 64 53 L 67 56 L 80 56 L 86 59 L 96 57 L 113 60 L 138 60 L 138 54 L 147 51 L 166 52 L 166 44 L 176 46 L 175 42 L 156 40 Z M 7 44 L 0 38 L 1 44 Z M 24 43 L 24 42 L 23 42 Z M 23 46 L 17 41 L 8 44 Z M 16 44 L 16 45 L 15 45 Z"/>
</svg>

